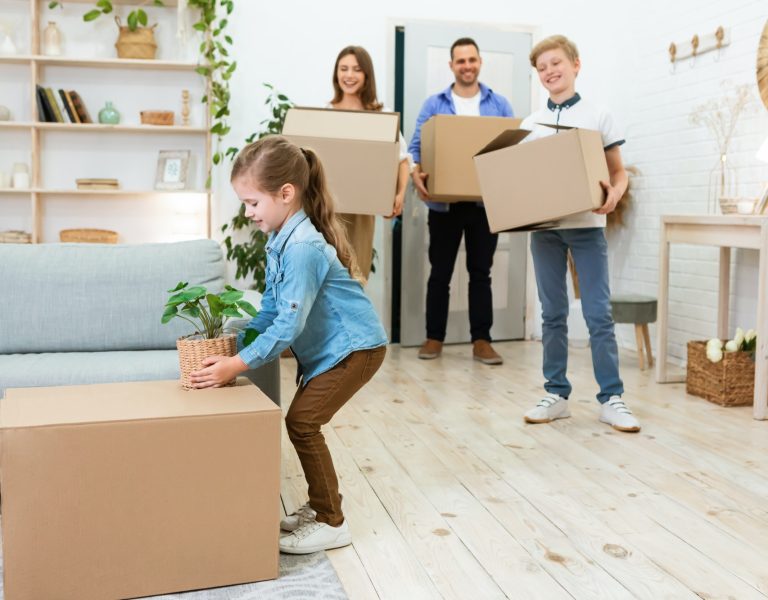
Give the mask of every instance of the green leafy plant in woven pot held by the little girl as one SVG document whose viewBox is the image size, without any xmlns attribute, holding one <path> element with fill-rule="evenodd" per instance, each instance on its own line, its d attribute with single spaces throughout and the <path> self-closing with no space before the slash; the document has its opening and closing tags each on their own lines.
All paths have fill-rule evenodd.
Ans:
<svg viewBox="0 0 768 600">
<path fill-rule="evenodd" d="M 190 374 L 202 368 L 204 358 L 234 356 L 237 353 L 237 330 L 227 328 L 227 322 L 231 318 L 243 318 L 243 312 L 255 317 L 258 311 L 250 302 L 243 300 L 243 292 L 229 285 L 224 286 L 224 291 L 219 294 L 208 293 L 203 286 L 188 286 L 187 282 L 181 281 L 168 290 L 171 297 L 165 304 L 161 322 L 180 318 L 189 321 L 195 328 L 194 333 L 176 340 L 181 387 L 191 390 L 194 388 Z M 243 345 L 247 346 L 257 336 L 255 329 L 246 329 Z M 234 383 L 233 379 L 227 385 Z"/>
</svg>

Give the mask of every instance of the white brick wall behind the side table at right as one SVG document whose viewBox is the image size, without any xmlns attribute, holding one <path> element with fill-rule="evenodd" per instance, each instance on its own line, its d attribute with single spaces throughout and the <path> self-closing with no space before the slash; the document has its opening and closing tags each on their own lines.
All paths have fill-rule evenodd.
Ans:
<svg viewBox="0 0 768 600">
<path fill-rule="evenodd" d="M 693 2 L 643 5 L 617 62 L 617 79 L 627 83 L 615 112 L 626 126 L 624 160 L 641 174 L 633 180 L 634 204 L 629 226 L 609 236 L 612 286 L 615 292 L 658 293 L 659 217 L 663 214 L 706 214 L 710 171 L 717 147 L 709 132 L 691 125 L 694 106 L 723 94 L 721 82 L 749 83 L 754 111 L 744 114 L 733 137 L 729 161 L 735 167 L 740 195 L 757 196 L 768 182 L 768 165 L 754 155 L 768 137 L 768 111 L 755 84 L 755 59 L 768 5 L 760 0 L 730 3 Z M 731 45 L 717 59 L 716 52 L 689 59 L 671 72 L 670 42 L 730 29 Z M 631 83 L 630 83 L 631 82 Z M 622 97 L 622 95 L 624 97 Z M 684 362 L 685 344 L 716 334 L 718 250 L 673 246 L 670 265 L 669 351 Z M 731 334 L 736 325 L 754 327 L 757 302 L 757 253 L 732 253 Z M 631 326 L 617 326 L 622 345 L 634 347 Z M 655 338 L 655 331 L 652 331 Z"/>
</svg>

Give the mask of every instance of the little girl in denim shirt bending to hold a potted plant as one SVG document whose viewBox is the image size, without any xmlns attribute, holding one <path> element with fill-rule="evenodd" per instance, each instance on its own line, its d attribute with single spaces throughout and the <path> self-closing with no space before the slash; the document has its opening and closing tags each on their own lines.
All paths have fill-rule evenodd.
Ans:
<svg viewBox="0 0 768 600">
<path fill-rule="evenodd" d="M 301 385 L 285 417 L 309 485 L 309 502 L 281 522 L 280 550 L 308 554 L 351 543 L 333 461 L 320 427 L 379 369 L 387 337 L 360 282 L 354 254 L 333 210 L 322 164 L 281 136 L 243 148 L 232 186 L 265 233 L 267 286 L 250 322 L 261 335 L 232 357 L 211 356 L 192 373 L 217 387 L 291 346 Z M 242 339 L 242 338 L 241 338 Z"/>
</svg>

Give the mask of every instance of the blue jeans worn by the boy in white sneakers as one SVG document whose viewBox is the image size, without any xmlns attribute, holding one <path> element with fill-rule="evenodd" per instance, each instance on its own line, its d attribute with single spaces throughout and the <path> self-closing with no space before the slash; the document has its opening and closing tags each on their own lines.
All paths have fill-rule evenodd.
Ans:
<svg viewBox="0 0 768 600">
<path fill-rule="evenodd" d="M 568 248 L 579 275 L 581 308 L 589 328 L 592 368 L 600 386 L 602 404 L 621 396 L 619 350 L 613 332 L 611 291 L 608 284 L 608 243 L 602 227 L 555 229 L 531 234 L 531 254 L 536 270 L 542 314 L 544 345 L 544 389 L 568 398 L 571 384 L 568 367 Z"/>
</svg>

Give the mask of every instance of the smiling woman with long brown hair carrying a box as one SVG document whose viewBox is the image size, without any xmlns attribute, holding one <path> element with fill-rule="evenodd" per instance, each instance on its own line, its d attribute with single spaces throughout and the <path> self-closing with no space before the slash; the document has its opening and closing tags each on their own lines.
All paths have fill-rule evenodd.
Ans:
<svg viewBox="0 0 768 600">
<path fill-rule="evenodd" d="M 333 67 L 333 100 L 328 108 L 343 110 L 373 110 L 383 108 L 376 99 L 376 77 L 373 74 L 371 57 L 361 46 L 347 46 L 336 57 Z M 403 212 L 405 188 L 410 174 L 408 150 L 400 136 L 400 166 L 397 173 L 395 201 L 392 205 L 391 219 Z M 373 215 L 340 214 L 347 230 L 347 237 L 352 242 L 360 274 L 367 281 L 373 259 Z"/>
</svg>

